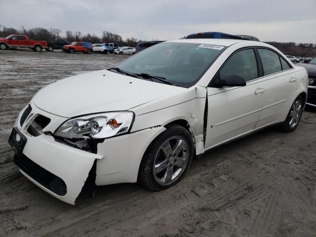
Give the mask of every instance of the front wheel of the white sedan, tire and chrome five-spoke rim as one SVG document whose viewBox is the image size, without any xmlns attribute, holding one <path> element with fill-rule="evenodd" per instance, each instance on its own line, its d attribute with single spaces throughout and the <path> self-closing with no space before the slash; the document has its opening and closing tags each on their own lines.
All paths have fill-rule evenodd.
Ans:
<svg viewBox="0 0 316 237">
<path fill-rule="evenodd" d="M 194 154 L 191 133 L 173 124 L 149 145 L 140 164 L 138 181 L 150 191 L 168 189 L 186 174 Z"/>
</svg>

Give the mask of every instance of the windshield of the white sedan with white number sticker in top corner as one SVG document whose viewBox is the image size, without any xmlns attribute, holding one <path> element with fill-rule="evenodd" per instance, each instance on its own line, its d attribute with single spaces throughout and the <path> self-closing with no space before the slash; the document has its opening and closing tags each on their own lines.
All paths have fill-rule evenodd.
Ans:
<svg viewBox="0 0 316 237">
<path fill-rule="evenodd" d="M 213 44 L 158 43 L 121 62 L 116 68 L 135 75 L 147 75 L 147 78 L 148 75 L 159 77 L 173 85 L 190 87 L 197 83 L 225 49 L 224 46 Z"/>
</svg>

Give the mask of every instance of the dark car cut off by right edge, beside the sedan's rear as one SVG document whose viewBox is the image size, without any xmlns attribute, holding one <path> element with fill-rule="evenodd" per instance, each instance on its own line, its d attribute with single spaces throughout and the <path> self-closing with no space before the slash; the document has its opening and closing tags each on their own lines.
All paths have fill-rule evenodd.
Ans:
<svg viewBox="0 0 316 237">
<path fill-rule="evenodd" d="M 306 68 L 308 73 L 308 93 L 306 105 L 316 109 L 316 57 L 308 63 L 298 63 L 297 66 Z"/>
</svg>

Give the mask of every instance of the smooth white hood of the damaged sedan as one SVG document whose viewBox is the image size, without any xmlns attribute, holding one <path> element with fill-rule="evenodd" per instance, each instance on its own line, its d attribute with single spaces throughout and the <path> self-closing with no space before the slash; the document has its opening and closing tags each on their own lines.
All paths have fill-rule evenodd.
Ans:
<svg viewBox="0 0 316 237">
<path fill-rule="evenodd" d="M 139 105 L 186 90 L 101 70 L 49 84 L 40 89 L 33 102 L 46 112 L 72 118 L 99 112 L 133 111 Z"/>
</svg>

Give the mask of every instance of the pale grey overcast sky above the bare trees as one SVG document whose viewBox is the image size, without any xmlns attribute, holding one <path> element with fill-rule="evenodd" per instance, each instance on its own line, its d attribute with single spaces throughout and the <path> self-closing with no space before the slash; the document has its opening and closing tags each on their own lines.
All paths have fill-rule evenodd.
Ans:
<svg viewBox="0 0 316 237">
<path fill-rule="evenodd" d="M 316 0 L 0 0 L 0 25 L 123 39 L 175 40 L 219 31 L 262 41 L 316 43 Z M 170 32 L 170 38 L 169 38 Z"/>
</svg>

